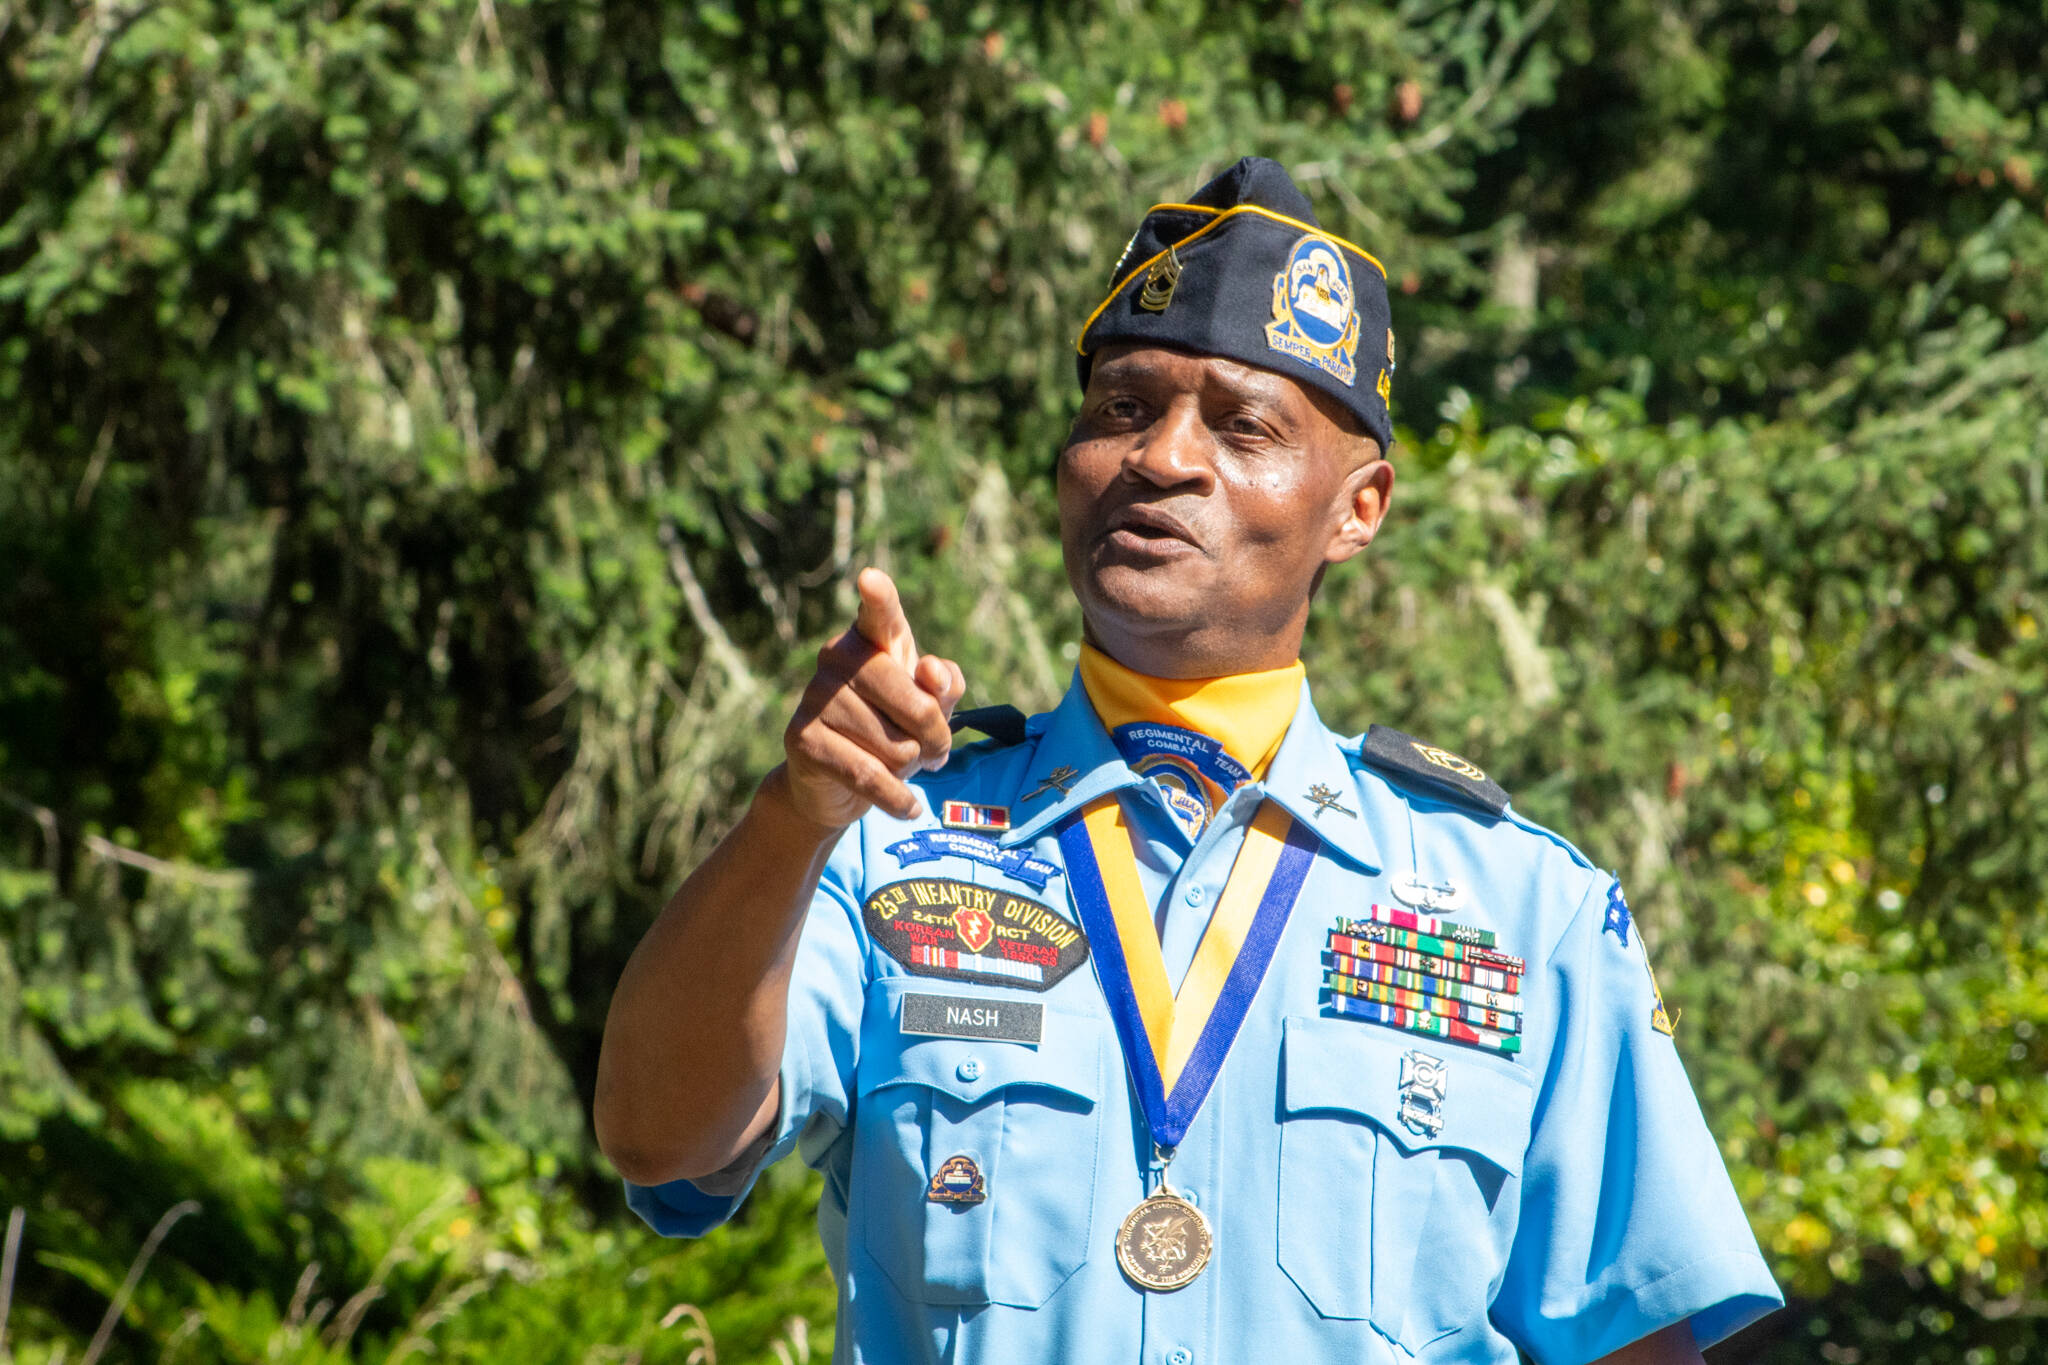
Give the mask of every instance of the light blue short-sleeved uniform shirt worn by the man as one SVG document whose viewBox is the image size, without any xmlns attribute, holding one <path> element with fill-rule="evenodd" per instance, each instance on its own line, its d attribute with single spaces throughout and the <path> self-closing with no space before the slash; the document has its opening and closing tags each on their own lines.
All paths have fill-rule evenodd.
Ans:
<svg viewBox="0 0 2048 1365">
<path fill-rule="evenodd" d="M 1065 790 L 1044 782 L 1061 767 L 1073 769 Z M 1782 1302 L 1673 1042 L 1651 1025 L 1655 986 L 1634 929 L 1612 923 L 1614 878 L 1556 835 L 1368 767 L 1307 690 L 1266 780 L 1239 788 L 1192 847 L 1079 681 L 1024 743 L 975 745 L 913 786 L 930 810 L 870 812 L 819 882 L 791 980 L 782 1113 L 760 1162 L 795 1148 L 825 1177 L 834 1361 L 1513 1365 L 1520 1347 L 1567 1365 L 1686 1318 L 1704 1347 Z M 1311 800 L 1315 786 L 1337 806 Z M 1044 990 L 963 982 L 913 972 L 862 921 L 870 896 L 930 876 L 1077 921 L 1059 872 L 1020 880 L 987 860 L 905 862 L 891 847 L 936 829 L 942 802 L 971 800 L 1010 808 L 1004 849 L 1057 868 L 1057 825 L 1104 792 L 1122 792 L 1137 823 L 1176 982 L 1260 800 L 1319 839 L 1266 982 L 1169 1166 L 1214 1232 L 1208 1269 L 1171 1293 L 1133 1287 L 1116 1265 L 1151 1138 L 1094 956 Z M 1493 929 L 1526 960 L 1518 1058 L 1329 1005 L 1327 931 L 1399 905 L 1391 884 L 1411 874 L 1458 886 L 1464 902 L 1444 917 Z M 905 993 L 1042 1005 L 1040 1038 L 909 1033 Z M 1407 1052 L 1446 1068 L 1432 1136 L 1399 1121 Z M 928 1199 L 952 1156 L 981 1175 L 981 1203 Z M 698 1236 L 750 1183 L 733 1197 L 688 1181 L 629 1185 L 627 1197 L 659 1232 Z"/>
</svg>

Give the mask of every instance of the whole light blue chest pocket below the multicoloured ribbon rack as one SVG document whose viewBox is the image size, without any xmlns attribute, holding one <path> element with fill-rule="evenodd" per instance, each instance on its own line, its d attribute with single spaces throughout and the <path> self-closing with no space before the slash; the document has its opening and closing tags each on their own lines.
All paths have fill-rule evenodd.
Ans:
<svg viewBox="0 0 2048 1365">
<path fill-rule="evenodd" d="M 1528 1076 L 1348 1019 L 1282 1029 L 1280 1269 L 1321 1316 L 1366 1318 L 1411 1353 L 1483 1322 L 1511 1230 L 1495 1209 L 1528 1148 Z M 1444 1064 L 1442 1099 L 1411 1107 L 1413 1126 L 1407 1052 Z"/>
</svg>

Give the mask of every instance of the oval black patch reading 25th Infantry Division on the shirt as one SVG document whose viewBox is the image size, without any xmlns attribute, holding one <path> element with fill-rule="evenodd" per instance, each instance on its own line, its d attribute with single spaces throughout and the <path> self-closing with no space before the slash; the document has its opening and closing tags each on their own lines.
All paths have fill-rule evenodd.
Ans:
<svg viewBox="0 0 2048 1365">
<path fill-rule="evenodd" d="M 1087 935 L 1071 919 L 995 886 L 942 876 L 883 886 L 860 919 L 915 976 L 1049 990 L 1087 962 Z"/>
</svg>

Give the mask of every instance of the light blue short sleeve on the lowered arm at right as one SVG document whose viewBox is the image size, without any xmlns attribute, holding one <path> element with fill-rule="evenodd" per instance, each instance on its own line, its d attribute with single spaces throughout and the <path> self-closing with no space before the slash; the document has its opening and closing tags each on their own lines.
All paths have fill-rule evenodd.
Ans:
<svg viewBox="0 0 2048 1365">
<path fill-rule="evenodd" d="M 1552 1048 L 1493 1316 L 1540 1365 L 1597 1361 L 1673 1322 L 1710 1347 L 1784 1300 L 1673 1040 L 1640 935 L 1599 880 L 1561 939 Z M 1626 923 L 1626 921 L 1624 921 Z"/>
</svg>

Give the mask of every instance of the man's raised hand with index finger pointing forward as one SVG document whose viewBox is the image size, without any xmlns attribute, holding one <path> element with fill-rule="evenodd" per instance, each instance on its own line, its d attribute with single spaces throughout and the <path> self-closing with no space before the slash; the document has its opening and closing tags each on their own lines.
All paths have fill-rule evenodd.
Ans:
<svg viewBox="0 0 2048 1365">
<path fill-rule="evenodd" d="M 817 673 L 782 733 L 784 778 L 797 810 L 844 829 L 881 806 L 918 814 L 903 780 L 940 767 L 952 751 L 952 708 L 967 675 L 952 659 L 920 655 L 903 600 L 881 569 L 856 581 L 854 628 L 817 651 Z"/>
</svg>

